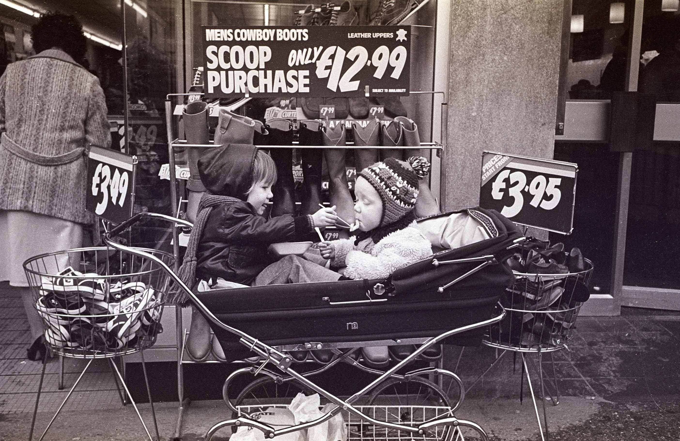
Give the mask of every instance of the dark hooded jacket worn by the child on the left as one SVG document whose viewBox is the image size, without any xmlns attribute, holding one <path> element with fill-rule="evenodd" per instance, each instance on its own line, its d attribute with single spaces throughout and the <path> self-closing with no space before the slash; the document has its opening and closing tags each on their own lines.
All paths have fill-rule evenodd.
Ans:
<svg viewBox="0 0 680 441">
<path fill-rule="evenodd" d="M 273 262 L 267 254 L 270 244 L 293 242 L 313 232 L 311 216 L 284 214 L 267 220 L 246 202 L 257 150 L 253 145 L 231 144 L 211 149 L 199 159 L 201 181 L 210 193 L 240 199 L 210 212 L 196 253 L 199 279 L 222 277 L 250 285 Z"/>
</svg>

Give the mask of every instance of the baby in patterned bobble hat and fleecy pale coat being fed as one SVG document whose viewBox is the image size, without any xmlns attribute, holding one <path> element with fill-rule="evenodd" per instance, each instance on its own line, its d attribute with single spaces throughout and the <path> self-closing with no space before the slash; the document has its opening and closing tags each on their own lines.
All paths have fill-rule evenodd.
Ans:
<svg viewBox="0 0 680 441">
<path fill-rule="evenodd" d="M 415 229 L 418 180 L 427 176 L 424 157 L 400 161 L 388 157 L 364 168 L 354 187 L 354 216 L 360 230 L 350 239 L 320 244 L 321 256 L 342 274 L 328 273 L 313 256 L 286 256 L 262 270 L 256 285 L 388 277 L 432 254 L 428 239 Z"/>
</svg>

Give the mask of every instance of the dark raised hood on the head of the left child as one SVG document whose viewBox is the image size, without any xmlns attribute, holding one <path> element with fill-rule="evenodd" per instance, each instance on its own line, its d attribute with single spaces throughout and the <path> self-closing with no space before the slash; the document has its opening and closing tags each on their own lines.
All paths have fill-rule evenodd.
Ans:
<svg viewBox="0 0 680 441">
<path fill-rule="evenodd" d="M 199 159 L 199 174 L 205 188 L 214 195 L 248 199 L 258 148 L 248 144 L 227 144 L 209 149 Z"/>
</svg>

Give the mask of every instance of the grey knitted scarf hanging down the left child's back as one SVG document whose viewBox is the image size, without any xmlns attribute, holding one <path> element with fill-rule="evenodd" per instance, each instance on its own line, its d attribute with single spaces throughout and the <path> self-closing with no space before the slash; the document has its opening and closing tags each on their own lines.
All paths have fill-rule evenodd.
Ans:
<svg viewBox="0 0 680 441">
<path fill-rule="evenodd" d="M 203 235 L 203 229 L 205 228 L 205 223 L 210 216 L 212 209 L 218 205 L 222 204 L 234 204 L 235 202 L 241 202 L 241 199 L 231 196 L 218 196 L 211 193 L 203 193 L 201 197 L 201 202 L 199 202 L 199 214 L 196 216 L 196 222 L 191 230 L 191 235 L 189 236 L 189 243 L 186 246 L 186 254 L 184 254 L 184 261 L 182 261 L 182 266 L 180 270 L 177 271 L 177 277 L 184 282 L 186 286 L 192 288 L 196 282 L 196 252 L 199 246 L 199 240 Z M 171 305 L 183 306 L 189 300 L 188 294 L 180 288 L 179 285 L 175 284 L 168 296 L 168 303 Z"/>
</svg>

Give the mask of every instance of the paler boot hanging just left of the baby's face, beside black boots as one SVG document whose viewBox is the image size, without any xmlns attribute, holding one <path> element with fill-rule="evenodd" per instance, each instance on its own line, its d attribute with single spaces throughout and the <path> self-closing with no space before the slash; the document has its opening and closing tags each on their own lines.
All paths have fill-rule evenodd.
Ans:
<svg viewBox="0 0 680 441">
<path fill-rule="evenodd" d="M 324 126 L 322 130 L 322 142 L 325 146 L 345 145 L 345 125 L 339 123 L 335 128 Z M 350 225 L 354 224 L 354 199 L 347 185 L 347 170 L 345 168 L 345 155 L 347 149 L 324 149 L 326 166 L 328 168 L 328 193 L 330 205 L 335 206 L 335 212 Z M 337 226 L 341 227 L 341 223 Z M 340 231 L 341 236 L 347 233 Z M 346 234 L 349 237 L 349 234 Z"/>
</svg>

